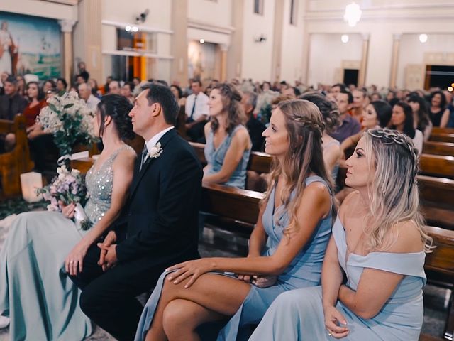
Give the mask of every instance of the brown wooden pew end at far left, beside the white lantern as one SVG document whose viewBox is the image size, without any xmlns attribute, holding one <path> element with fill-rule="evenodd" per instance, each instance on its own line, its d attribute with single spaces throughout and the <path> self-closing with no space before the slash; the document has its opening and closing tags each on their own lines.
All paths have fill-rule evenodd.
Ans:
<svg viewBox="0 0 454 341">
<path fill-rule="evenodd" d="M 25 117 L 17 115 L 14 121 L 0 120 L 0 133 L 16 134 L 16 146 L 13 150 L 0 154 L 1 195 L 13 197 L 21 194 L 21 173 L 29 172 L 33 168 Z"/>
</svg>

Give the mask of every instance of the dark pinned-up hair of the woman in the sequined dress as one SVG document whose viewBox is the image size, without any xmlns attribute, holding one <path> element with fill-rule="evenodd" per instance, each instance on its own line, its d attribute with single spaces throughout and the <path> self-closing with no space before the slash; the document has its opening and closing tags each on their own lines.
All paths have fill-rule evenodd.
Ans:
<svg viewBox="0 0 454 341">
<path fill-rule="evenodd" d="M 126 97 L 120 96 L 119 94 L 106 94 L 101 98 L 101 102 L 98 103 L 99 112 L 99 136 L 102 137 L 104 134 L 104 119 L 106 116 L 110 116 L 114 121 L 116 131 L 120 139 L 132 140 L 135 137 L 133 131 L 133 123 L 129 112 L 133 109 L 131 104 Z"/>
</svg>

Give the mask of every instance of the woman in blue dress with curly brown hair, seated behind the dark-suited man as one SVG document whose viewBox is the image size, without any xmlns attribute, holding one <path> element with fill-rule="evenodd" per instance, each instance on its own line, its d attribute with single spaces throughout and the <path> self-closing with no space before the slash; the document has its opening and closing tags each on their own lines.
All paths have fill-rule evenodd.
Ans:
<svg viewBox="0 0 454 341">
<path fill-rule="evenodd" d="M 205 126 L 204 181 L 208 183 L 245 188 L 252 143 L 243 126 L 245 114 L 240 101 L 240 93 L 231 84 L 220 83 L 211 90 L 211 121 Z"/>
</svg>

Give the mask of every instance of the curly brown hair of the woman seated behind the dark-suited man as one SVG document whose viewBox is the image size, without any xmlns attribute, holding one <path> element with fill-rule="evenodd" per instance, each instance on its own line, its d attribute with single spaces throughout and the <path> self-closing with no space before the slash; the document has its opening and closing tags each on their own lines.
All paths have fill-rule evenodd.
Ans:
<svg viewBox="0 0 454 341">
<path fill-rule="evenodd" d="M 216 87 L 213 87 L 213 90 L 218 90 L 221 93 L 223 112 L 228 114 L 226 131 L 230 134 L 238 124 L 245 124 L 246 122 L 246 115 L 241 105 L 241 94 L 230 83 L 219 83 Z M 211 130 L 215 133 L 218 129 L 218 119 L 211 117 Z"/>
</svg>

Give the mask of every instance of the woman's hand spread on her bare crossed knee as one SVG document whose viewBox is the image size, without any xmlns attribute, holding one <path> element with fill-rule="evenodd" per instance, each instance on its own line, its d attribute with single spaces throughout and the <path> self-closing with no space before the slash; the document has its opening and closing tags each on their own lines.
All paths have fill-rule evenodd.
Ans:
<svg viewBox="0 0 454 341">
<path fill-rule="evenodd" d="M 184 285 L 184 288 L 189 288 L 201 275 L 206 274 L 209 271 L 213 271 L 214 267 L 212 261 L 207 258 L 197 259 L 196 261 L 184 261 L 183 263 L 170 266 L 165 271 L 174 271 L 172 274 L 167 276 L 168 281 L 173 281 L 174 284 L 181 283 L 186 278 L 190 278 L 189 281 Z"/>
</svg>

